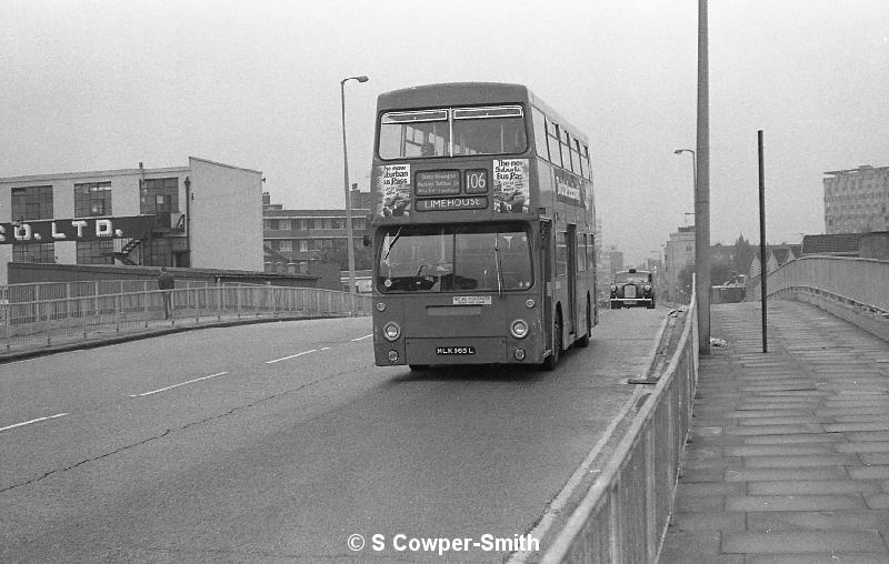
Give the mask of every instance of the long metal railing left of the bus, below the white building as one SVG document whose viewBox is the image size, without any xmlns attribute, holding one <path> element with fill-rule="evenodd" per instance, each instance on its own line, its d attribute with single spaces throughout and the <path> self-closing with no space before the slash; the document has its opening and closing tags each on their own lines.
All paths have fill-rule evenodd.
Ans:
<svg viewBox="0 0 889 564">
<path fill-rule="evenodd" d="M 226 284 L 192 285 L 167 292 L 172 312 L 169 320 L 162 290 L 0 302 L 0 343 L 10 350 L 17 344 L 51 344 L 58 340 L 87 339 L 96 333 L 119 334 L 150 325 L 200 324 L 243 318 L 363 316 L 370 315 L 371 306 L 370 296 L 314 288 Z"/>
</svg>

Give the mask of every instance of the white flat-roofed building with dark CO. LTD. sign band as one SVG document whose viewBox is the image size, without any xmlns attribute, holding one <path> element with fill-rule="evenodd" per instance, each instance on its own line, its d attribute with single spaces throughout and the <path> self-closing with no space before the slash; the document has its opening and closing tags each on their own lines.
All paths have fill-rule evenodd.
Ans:
<svg viewBox="0 0 889 564">
<path fill-rule="evenodd" d="M 188 167 L 0 179 L 7 263 L 263 270 L 262 173 L 189 157 Z"/>
</svg>

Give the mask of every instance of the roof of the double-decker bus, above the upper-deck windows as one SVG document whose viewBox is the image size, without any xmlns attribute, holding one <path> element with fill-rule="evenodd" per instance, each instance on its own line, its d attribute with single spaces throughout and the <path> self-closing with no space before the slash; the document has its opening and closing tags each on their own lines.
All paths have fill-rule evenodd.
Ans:
<svg viewBox="0 0 889 564">
<path fill-rule="evenodd" d="M 571 125 L 571 122 L 552 110 L 546 102 L 535 97 L 530 89 L 523 84 L 507 82 L 441 82 L 402 88 L 381 93 L 377 99 L 377 111 L 510 102 L 527 102 L 537 107 L 556 120 L 559 125 L 567 129 L 572 137 L 582 141 L 583 144 L 588 143 L 587 135 Z"/>
</svg>

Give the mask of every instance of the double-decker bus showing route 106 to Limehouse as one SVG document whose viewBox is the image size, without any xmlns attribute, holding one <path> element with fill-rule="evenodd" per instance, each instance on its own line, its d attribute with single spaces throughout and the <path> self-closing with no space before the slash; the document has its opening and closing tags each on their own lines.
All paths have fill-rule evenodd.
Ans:
<svg viewBox="0 0 889 564">
<path fill-rule="evenodd" d="M 598 321 L 587 138 L 527 87 L 380 94 L 376 364 L 541 364 Z"/>
</svg>

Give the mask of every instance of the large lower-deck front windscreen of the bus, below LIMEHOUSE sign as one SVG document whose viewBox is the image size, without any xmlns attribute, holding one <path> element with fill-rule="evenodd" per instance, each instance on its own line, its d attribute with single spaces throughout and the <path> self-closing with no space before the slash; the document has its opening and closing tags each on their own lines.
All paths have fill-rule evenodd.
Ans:
<svg viewBox="0 0 889 564">
<path fill-rule="evenodd" d="M 401 225 L 383 233 L 381 292 L 517 291 L 531 288 L 531 245 L 519 224 Z"/>
</svg>

